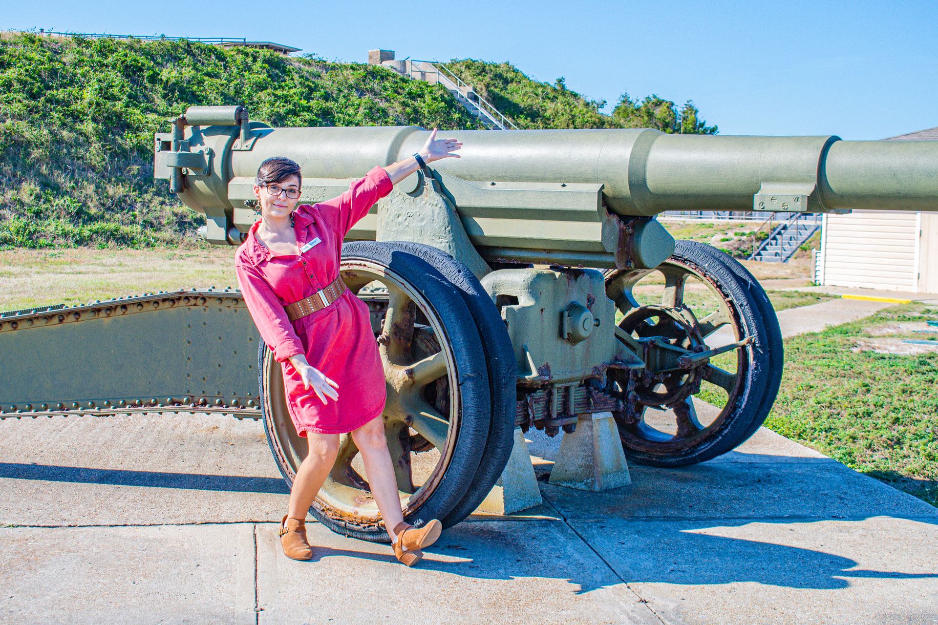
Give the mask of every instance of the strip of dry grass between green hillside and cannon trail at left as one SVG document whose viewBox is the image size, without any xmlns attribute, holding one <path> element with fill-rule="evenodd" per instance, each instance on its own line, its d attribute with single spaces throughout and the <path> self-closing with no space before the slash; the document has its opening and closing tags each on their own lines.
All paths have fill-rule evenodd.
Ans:
<svg viewBox="0 0 938 625">
<path fill-rule="evenodd" d="M 234 246 L 0 251 L 0 310 L 83 304 L 192 287 L 234 287 Z"/>
</svg>

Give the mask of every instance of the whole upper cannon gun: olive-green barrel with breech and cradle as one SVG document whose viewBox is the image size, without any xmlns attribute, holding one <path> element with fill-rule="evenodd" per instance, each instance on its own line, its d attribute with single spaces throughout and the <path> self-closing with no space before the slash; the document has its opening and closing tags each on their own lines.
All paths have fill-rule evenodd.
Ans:
<svg viewBox="0 0 938 625">
<path fill-rule="evenodd" d="M 219 245 L 240 243 L 256 220 L 252 186 L 265 158 L 293 158 L 303 201 L 322 201 L 375 165 L 414 154 L 429 136 L 416 126 L 271 128 L 249 122 L 240 107 L 193 107 L 180 120 L 173 133 L 157 135 L 155 175 L 208 217 L 205 238 Z M 427 173 L 489 261 L 655 266 L 671 253 L 670 237 L 652 228 L 626 241 L 623 231 L 639 227 L 628 226 L 631 219 L 664 211 L 938 210 L 938 141 L 652 129 L 445 134 L 462 141 L 462 157 L 436 161 Z M 400 190 L 416 193 L 422 175 Z M 376 208 L 349 238 L 381 239 L 379 230 Z M 629 259 L 625 246 L 633 248 Z"/>
</svg>

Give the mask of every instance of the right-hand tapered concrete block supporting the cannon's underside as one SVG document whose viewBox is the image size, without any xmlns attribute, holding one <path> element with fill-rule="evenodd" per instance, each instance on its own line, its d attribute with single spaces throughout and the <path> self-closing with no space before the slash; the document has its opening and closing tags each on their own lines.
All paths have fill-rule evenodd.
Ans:
<svg viewBox="0 0 938 625">
<path fill-rule="evenodd" d="M 576 431 L 560 441 L 550 482 L 592 491 L 632 483 L 612 412 L 580 415 Z"/>
</svg>

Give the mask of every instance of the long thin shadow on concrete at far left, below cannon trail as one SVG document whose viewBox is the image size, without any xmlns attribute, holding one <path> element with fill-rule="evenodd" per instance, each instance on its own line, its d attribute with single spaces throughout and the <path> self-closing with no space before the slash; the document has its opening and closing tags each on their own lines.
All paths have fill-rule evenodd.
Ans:
<svg viewBox="0 0 938 625">
<path fill-rule="evenodd" d="M 242 477 L 238 475 L 205 475 L 200 473 L 164 473 L 126 469 L 85 469 L 50 465 L 0 463 L 0 478 L 71 482 L 76 484 L 113 484 L 219 490 L 241 493 L 288 494 L 290 490 L 280 478 Z"/>
</svg>

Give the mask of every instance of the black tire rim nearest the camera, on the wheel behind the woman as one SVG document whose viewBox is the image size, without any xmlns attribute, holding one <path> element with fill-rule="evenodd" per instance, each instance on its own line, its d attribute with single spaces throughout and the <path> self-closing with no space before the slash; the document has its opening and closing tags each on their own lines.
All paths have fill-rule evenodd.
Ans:
<svg viewBox="0 0 938 625">
<path fill-rule="evenodd" d="M 492 400 L 482 341 L 479 338 L 476 323 L 459 291 L 427 261 L 400 249 L 372 241 L 344 244 L 342 260 L 346 259 L 371 261 L 403 276 L 409 286 L 430 303 L 433 314 L 444 327 L 446 341 L 452 346 L 462 403 L 460 431 L 440 483 L 416 510 L 406 516 L 409 523 L 421 527 L 431 519 L 446 517 L 446 514 L 463 499 L 476 476 L 478 462 L 485 449 L 492 421 Z M 264 351 L 262 345 L 259 354 L 262 364 L 260 389 L 261 405 L 265 410 L 265 433 L 280 474 L 283 475 L 288 486 L 292 487 L 289 473 L 278 461 L 278 454 L 268 426 L 270 420 L 266 415 L 267 401 L 264 396 L 263 383 Z M 325 527 L 345 536 L 377 543 L 388 542 L 383 528 L 358 528 L 321 513 L 315 505 L 310 508 L 310 513 Z"/>
</svg>

